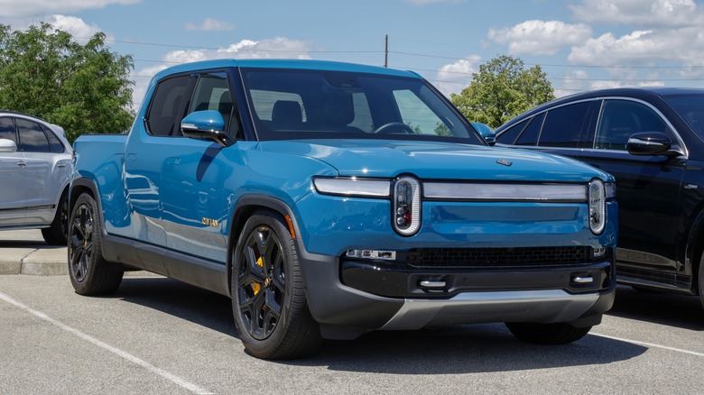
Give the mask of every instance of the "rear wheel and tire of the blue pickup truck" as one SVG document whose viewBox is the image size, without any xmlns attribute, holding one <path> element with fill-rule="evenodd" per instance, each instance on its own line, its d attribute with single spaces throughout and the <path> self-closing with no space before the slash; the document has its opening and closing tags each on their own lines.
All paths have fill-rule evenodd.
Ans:
<svg viewBox="0 0 704 395">
<path fill-rule="evenodd" d="M 111 294 L 125 273 L 103 258 L 102 234 L 96 200 L 84 193 L 73 205 L 69 225 L 69 276 L 80 295 Z"/>
</svg>

